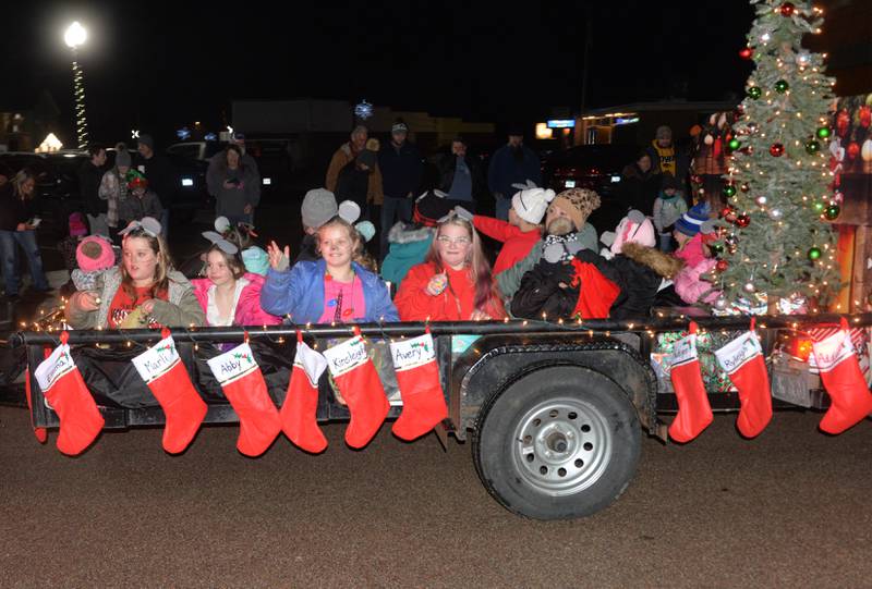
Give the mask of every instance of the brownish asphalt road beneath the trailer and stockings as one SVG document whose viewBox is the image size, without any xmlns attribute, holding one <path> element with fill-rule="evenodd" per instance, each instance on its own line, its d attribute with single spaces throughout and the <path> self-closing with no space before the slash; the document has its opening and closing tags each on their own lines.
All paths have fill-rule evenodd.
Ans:
<svg viewBox="0 0 872 589">
<path fill-rule="evenodd" d="M 148 429 L 69 458 L 0 407 L 0 586 L 872 586 L 872 422 L 831 438 L 780 413 L 743 441 L 734 419 L 645 440 L 611 507 L 541 523 L 494 502 L 452 439 L 383 427 L 355 452 L 336 424 L 323 455 L 282 438 L 250 459 L 210 427 L 173 457 Z"/>
</svg>

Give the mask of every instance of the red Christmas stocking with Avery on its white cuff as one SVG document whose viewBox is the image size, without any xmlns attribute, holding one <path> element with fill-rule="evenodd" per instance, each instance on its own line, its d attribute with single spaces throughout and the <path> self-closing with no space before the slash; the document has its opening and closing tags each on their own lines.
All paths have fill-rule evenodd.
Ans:
<svg viewBox="0 0 872 589">
<path fill-rule="evenodd" d="M 392 431 L 398 438 L 412 441 L 448 417 L 429 331 L 420 338 L 390 344 L 390 355 L 402 395 L 402 414 Z"/>
</svg>

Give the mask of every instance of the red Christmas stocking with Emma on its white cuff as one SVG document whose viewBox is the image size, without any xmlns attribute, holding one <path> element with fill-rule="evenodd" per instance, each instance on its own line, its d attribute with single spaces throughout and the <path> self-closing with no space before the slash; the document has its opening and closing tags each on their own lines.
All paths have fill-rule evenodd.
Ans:
<svg viewBox="0 0 872 589">
<path fill-rule="evenodd" d="M 34 376 L 61 421 L 58 450 L 70 456 L 81 454 L 97 438 L 106 422 L 90 396 L 61 333 L 61 345 L 36 367 Z"/>
</svg>

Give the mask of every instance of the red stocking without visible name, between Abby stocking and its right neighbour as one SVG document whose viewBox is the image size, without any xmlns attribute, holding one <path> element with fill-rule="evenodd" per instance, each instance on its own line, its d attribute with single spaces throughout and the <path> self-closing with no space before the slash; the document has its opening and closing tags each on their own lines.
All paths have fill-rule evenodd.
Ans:
<svg viewBox="0 0 872 589">
<path fill-rule="evenodd" d="M 308 347 L 298 331 L 291 382 L 281 406 L 281 429 L 291 442 L 315 454 L 327 447 L 327 439 L 316 418 L 318 379 L 326 368 L 324 356 Z"/>
</svg>

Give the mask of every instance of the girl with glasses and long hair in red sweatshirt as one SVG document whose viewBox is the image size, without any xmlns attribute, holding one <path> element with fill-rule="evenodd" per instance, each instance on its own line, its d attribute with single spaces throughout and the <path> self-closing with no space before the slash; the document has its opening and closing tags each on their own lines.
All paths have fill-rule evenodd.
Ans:
<svg viewBox="0 0 872 589">
<path fill-rule="evenodd" d="M 409 270 L 393 304 L 402 321 L 506 317 L 479 234 L 456 214 L 439 223 L 426 260 Z"/>
</svg>

